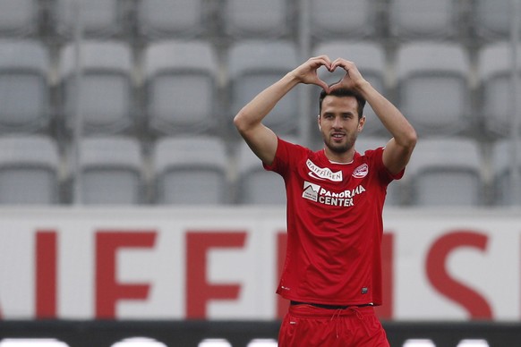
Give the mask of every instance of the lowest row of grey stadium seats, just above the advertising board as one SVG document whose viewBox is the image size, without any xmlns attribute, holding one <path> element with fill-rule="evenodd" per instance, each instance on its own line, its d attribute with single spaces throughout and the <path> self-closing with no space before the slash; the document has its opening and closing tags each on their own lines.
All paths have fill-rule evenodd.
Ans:
<svg viewBox="0 0 521 347">
<path fill-rule="evenodd" d="M 387 140 L 362 137 L 356 148 L 363 152 Z M 0 204 L 283 205 L 286 200 L 282 179 L 264 171 L 244 143 L 229 148 L 209 135 L 163 137 L 149 148 L 132 137 L 93 136 L 63 152 L 48 136 L 12 135 L 0 137 L 0 148 Z M 508 141 L 500 141 L 483 157 L 473 140 L 422 140 L 404 179 L 389 186 L 388 204 L 508 205 L 514 198 L 509 149 Z"/>
</svg>

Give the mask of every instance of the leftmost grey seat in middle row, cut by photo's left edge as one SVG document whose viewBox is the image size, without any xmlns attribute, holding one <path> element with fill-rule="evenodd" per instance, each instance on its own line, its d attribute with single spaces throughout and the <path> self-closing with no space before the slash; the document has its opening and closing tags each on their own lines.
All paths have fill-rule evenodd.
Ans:
<svg viewBox="0 0 521 347">
<path fill-rule="evenodd" d="M 0 40 L 0 131 L 45 130 L 50 120 L 50 57 L 36 40 Z"/>
</svg>

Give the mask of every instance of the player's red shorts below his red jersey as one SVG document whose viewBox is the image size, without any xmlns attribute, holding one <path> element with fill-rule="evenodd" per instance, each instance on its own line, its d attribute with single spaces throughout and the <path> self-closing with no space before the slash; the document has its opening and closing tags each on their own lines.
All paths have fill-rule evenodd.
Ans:
<svg viewBox="0 0 521 347">
<path fill-rule="evenodd" d="M 320 309 L 291 305 L 278 347 L 389 347 L 374 308 Z"/>
</svg>

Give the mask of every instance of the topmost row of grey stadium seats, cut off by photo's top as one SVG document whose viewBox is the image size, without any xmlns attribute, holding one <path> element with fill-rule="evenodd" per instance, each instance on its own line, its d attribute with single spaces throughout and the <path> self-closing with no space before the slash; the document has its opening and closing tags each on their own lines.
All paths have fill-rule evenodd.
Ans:
<svg viewBox="0 0 521 347">
<path fill-rule="evenodd" d="M 488 40 L 510 30 L 510 0 L 2 0 L 0 34 L 70 38 L 81 8 L 90 37 L 289 38 L 299 35 L 305 4 L 318 39 Z"/>
</svg>

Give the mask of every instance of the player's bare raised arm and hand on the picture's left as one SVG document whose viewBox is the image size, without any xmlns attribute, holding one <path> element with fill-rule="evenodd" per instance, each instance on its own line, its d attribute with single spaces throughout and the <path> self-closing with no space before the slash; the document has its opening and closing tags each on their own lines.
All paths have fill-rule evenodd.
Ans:
<svg viewBox="0 0 521 347">
<path fill-rule="evenodd" d="M 278 143 L 277 135 L 262 124 L 264 117 L 299 83 L 316 84 L 323 89 L 328 89 L 328 85 L 319 79 L 317 70 L 320 66 L 330 69 L 330 65 L 329 58 L 325 55 L 310 58 L 295 70 L 286 73 L 282 79 L 262 90 L 235 115 L 235 127 L 262 162 L 268 165 L 273 163 Z"/>
</svg>

